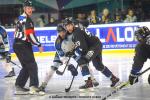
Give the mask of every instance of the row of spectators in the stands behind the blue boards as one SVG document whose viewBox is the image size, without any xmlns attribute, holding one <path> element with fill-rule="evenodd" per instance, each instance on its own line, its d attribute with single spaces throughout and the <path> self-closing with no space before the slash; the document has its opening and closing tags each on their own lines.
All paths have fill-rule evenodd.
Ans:
<svg viewBox="0 0 150 100">
<path fill-rule="evenodd" d="M 137 21 L 138 22 L 144 21 L 140 19 L 139 16 L 136 15 L 134 9 L 128 9 L 127 11 L 117 10 L 115 13 L 111 14 L 109 9 L 104 8 L 102 13 L 100 13 L 99 15 L 98 15 L 98 12 L 96 12 L 96 10 L 92 10 L 90 11 L 89 15 L 87 15 L 85 12 L 79 12 L 77 13 L 76 17 L 73 17 L 73 18 L 79 21 L 80 23 L 82 23 L 86 27 L 88 25 L 94 25 L 94 24 L 131 23 L 131 22 L 137 22 Z M 56 20 L 53 17 L 50 17 L 49 22 L 43 25 L 44 20 L 42 20 L 42 18 L 40 19 L 41 19 L 40 22 L 37 23 L 39 27 L 56 26 L 57 23 L 59 23 L 58 20 Z"/>
</svg>

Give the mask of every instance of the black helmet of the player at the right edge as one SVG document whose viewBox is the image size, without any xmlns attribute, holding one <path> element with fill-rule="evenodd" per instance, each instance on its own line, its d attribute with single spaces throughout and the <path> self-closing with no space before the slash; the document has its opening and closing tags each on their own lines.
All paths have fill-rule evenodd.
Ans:
<svg viewBox="0 0 150 100">
<path fill-rule="evenodd" d="M 135 31 L 135 37 L 140 42 L 145 40 L 148 35 L 150 35 L 150 30 L 146 26 L 140 27 Z"/>
</svg>

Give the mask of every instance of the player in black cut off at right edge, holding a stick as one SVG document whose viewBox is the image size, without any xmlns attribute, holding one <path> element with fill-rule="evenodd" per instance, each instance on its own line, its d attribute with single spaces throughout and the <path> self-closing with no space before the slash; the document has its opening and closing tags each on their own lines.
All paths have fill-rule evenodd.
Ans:
<svg viewBox="0 0 150 100">
<path fill-rule="evenodd" d="M 129 75 L 131 85 L 138 82 L 138 74 L 143 68 L 144 63 L 150 58 L 150 30 L 143 26 L 135 31 L 135 37 L 138 44 L 135 47 L 135 56 L 133 59 L 132 69 Z M 150 76 L 148 78 L 150 82 Z"/>
</svg>

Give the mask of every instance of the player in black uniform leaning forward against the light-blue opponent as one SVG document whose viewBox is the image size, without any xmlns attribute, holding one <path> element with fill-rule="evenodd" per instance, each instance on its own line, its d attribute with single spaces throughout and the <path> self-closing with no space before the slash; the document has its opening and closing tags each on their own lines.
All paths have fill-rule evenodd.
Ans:
<svg viewBox="0 0 150 100">
<path fill-rule="evenodd" d="M 77 63 L 82 67 L 82 75 L 85 80 L 85 85 L 79 87 L 82 91 L 84 89 L 93 89 L 93 83 L 90 77 L 90 72 L 88 69 L 88 64 L 92 61 L 94 67 L 101 71 L 106 77 L 111 80 L 111 87 L 114 87 L 116 83 L 119 82 L 119 78 L 114 76 L 112 72 L 103 65 L 102 63 L 102 43 L 96 36 L 86 33 L 86 31 L 81 30 L 74 26 L 71 20 L 64 20 L 64 27 L 69 33 L 72 34 L 72 40 L 76 45 L 75 52 L 78 53 Z"/>
</svg>

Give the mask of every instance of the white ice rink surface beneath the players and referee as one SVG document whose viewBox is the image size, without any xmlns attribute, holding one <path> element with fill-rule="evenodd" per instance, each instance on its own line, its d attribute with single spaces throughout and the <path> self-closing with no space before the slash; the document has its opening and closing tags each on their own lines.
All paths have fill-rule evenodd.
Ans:
<svg viewBox="0 0 150 100">
<path fill-rule="evenodd" d="M 128 76 L 132 67 L 134 54 L 103 54 L 104 64 L 120 78 L 121 82 L 128 80 Z M 52 64 L 53 57 L 36 58 L 39 68 L 39 81 L 43 80 L 46 75 L 46 71 L 49 70 Z M 13 59 L 17 64 L 20 64 L 17 59 Z M 75 64 L 75 61 L 71 60 L 71 63 Z M 2 63 L 0 63 L 2 66 Z M 14 65 L 12 65 L 14 66 Z M 65 93 L 64 90 L 69 86 L 71 81 L 71 74 L 67 70 L 63 76 L 54 75 L 48 83 L 46 88 L 47 94 L 45 96 L 38 95 L 14 95 L 14 84 L 16 77 L 4 78 L 6 72 L 0 67 L 0 100 L 101 100 L 101 98 L 108 95 L 113 88 L 110 88 L 110 80 L 102 75 L 100 72 L 90 65 L 93 70 L 93 74 L 100 85 L 94 90 L 94 92 L 79 92 L 78 87 L 84 84 L 83 78 L 78 69 L 78 76 L 75 78 L 71 91 Z M 150 61 L 148 60 L 143 69 L 150 67 Z M 19 73 L 19 68 L 14 66 L 16 74 Z M 63 66 L 59 68 L 62 70 Z M 139 78 L 139 82 L 128 88 L 124 88 L 117 93 L 110 96 L 107 100 L 150 100 L 150 85 L 147 82 L 149 75 L 148 71 Z M 28 87 L 28 84 L 26 84 Z M 57 95 L 57 96 L 56 96 Z"/>
</svg>

